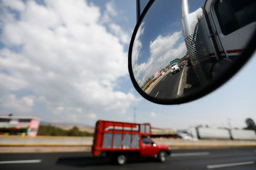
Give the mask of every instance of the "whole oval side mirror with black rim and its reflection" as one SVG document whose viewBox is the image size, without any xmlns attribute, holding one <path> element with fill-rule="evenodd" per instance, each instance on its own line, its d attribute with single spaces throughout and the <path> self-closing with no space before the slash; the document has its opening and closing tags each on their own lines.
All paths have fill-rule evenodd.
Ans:
<svg viewBox="0 0 256 170">
<path fill-rule="evenodd" d="M 256 1 L 189 2 L 150 1 L 134 29 L 130 78 L 154 103 L 181 104 L 209 94 L 255 51 Z"/>
</svg>

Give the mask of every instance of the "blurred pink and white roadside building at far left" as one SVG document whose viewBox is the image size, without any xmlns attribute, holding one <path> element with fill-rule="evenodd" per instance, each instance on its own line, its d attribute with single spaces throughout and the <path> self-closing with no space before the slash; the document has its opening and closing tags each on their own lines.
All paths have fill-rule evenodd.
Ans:
<svg viewBox="0 0 256 170">
<path fill-rule="evenodd" d="M 40 120 L 35 117 L 0 116 L 0 135 L 20 135 L 35 137 Z"/>
</svg>

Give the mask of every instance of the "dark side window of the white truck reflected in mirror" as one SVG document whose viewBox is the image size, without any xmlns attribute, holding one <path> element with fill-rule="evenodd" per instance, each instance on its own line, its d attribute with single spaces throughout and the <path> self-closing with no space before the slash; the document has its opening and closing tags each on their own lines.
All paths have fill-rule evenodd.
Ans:
<svg viewBox="0 0 256 170">
<path fill-rule="evenodd" d="M 228 35 L 256 20 L 256 1 L 220 0 L 214 5 L 221 31 Z"/>
</svg>

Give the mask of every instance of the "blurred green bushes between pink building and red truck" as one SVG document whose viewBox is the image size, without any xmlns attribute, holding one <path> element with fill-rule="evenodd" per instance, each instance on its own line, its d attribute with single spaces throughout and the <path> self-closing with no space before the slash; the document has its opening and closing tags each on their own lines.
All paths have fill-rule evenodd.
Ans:
<svg viewBox="0 0 256 170">
<path fill-rule="evenodd" d="M 74 126 L 72 129 L 64 130 L 57 128 L 52 125 L 43 126 L 40 125 L 38 129 L 38 135 L 42 136 L 70 136 L 70 137 L 92 137 L 92 133 L 86 131 L 80 131 L 77 126 Z"/>
</svg>

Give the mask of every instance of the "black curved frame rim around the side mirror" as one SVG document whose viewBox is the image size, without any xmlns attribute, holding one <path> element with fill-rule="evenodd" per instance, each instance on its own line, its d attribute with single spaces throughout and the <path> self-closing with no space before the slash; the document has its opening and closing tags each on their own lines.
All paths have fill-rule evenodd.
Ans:
<svg viewBox="0 0 256 170">
<path fill-rule="evenodd" d="M 147 6 L 144 8 L 135 28 L 133 35 L 131 37 L 130 41 L 130 46 L 129 46 L 129 53 L 128 53 L 128 70 L 131 78 L 131 82 L 133 82 L 134 88 L 139 92 L 141 96 L 143 96 L 145 99 L 152 101 L 153 103 L 156 104 L 164 104 L 164 105 L 171 105 L 171 104 L 182 104 L 182 103 L 187 103 L 189 101 L 193 101 L 196 99 L 199 99 L 205 95 L 210 94 L 210 92 L 216 90 L 218 87 L 222 86 L 225 82 L 227 82 L 230 78 L 232 78 L 233 75 L 235 75 L 238 70 L 241 69 L 243 65 L 253 56 L 253 53 L 255 52 L 255 47 L 256 47 L 256 31 L 254 31 L 254 35 L 252 39 L 248 42 L 246 45 L 245 49 L 243 50 L 240 59 L 237 61 L 234 61 L 234 64 L 230 66 L 229 72 L 221 75 L 219 78 L 216 80 L 212 80 L 208 86 L 202 87 L 198 90 L 193 91 L 193 94 L 195 95 L 188 95 L 188 96 L 183 96 L 177 99 L 156 99 L 155 97 L 152 97 L 148 94 L 146 94 L 141 87 L 139 87 L 137 81 L 134 78 L 133 74 L 133 67 L 131 63 L 131 55 L 133 51 L 133 43 L 135 36 L 137 34 L 137 31 L 139 29 L 139 26 L 141 25 L 141 22 L 144 18 L 144 16 L 147 14 L 148 9 L 151 7 L 151 5 L 154 3 L 155 0 L 151 0 L 148 2 Z"/>
</svg>

